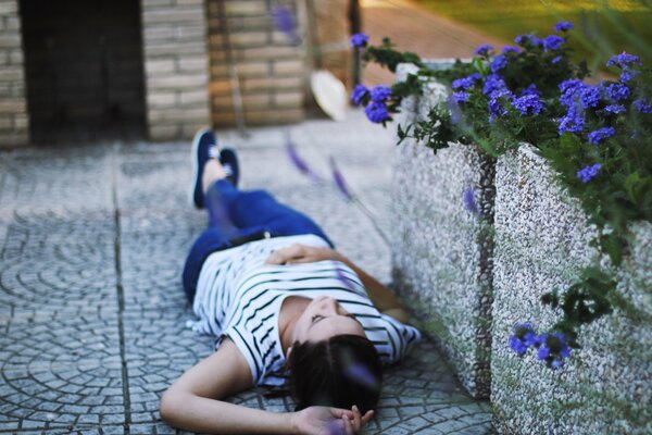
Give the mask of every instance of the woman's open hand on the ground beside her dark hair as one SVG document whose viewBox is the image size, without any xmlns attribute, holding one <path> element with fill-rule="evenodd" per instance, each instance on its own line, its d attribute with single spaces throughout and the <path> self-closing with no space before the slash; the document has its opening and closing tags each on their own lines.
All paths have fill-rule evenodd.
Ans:
<svg viewBox="0 0 652 435">
<path fill-rule="evenodd" d="M 351 410 L 310 407 L 294 412 L 292 428 L 297 434 L 305 435 L 353 435 L 368 423 L 374 417 L 374 411 L 360 414 L 358 407 Z"/>
</svg>

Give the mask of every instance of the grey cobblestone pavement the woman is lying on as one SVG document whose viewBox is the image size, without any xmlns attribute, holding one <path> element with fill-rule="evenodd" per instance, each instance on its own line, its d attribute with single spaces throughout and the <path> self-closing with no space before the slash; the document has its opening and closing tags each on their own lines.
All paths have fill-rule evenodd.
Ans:
<svg viewBox="0 0 652 435">
<path fill-rule="evenodd" d="M 389 249 L 329 183 L 286 159 L 285 129 L 240 150 L 244 188 L 265 187 L 323 225 L 339 249 L 385 282 Z M 327 158 L 387 231 L 392 129 L 348 122 L 289 127 L 327 177 Z M 211 352 L 185 327 L 180 270 L 205 216 L 188 206 L 188 144 L 104 144 L 0 152 L 0 433 L 173 434 L 159 398 Z M 273 411 L 289 398 L 252 389 L 230 400 Z M 486 434 L 490 406 L 467 398 L 429 341 L 386 376 L 365 433 Z"/>
</svg>

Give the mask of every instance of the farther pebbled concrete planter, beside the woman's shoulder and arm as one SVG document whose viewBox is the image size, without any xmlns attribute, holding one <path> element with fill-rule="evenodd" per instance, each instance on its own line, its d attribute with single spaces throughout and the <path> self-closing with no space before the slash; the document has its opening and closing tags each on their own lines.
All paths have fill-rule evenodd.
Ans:
<svg viewBox="0 0 652 435">
<path fill-rule="evenodd" d="M 402 65 L 398 79 L 410 65 Z M 408 124 L 446 98 L 430 84 L 404 102 Z M 397 147 L 392 181 L 392 274 L 405 302 L 437 340 L 462 384 L 475 397 L 490 386 L 491 238 L 494 162 L 474 147 L 452 144 L 437 154 L 422 144 Z M 475 190 L 480 214 L 464 191 Z"/>
</svg>

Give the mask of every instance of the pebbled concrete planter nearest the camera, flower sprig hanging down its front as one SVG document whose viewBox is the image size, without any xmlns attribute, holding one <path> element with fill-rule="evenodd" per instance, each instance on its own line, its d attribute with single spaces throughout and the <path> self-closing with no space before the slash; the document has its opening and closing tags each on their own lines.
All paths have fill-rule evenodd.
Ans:
<svg viewBox="0 0 652 435">
<path fill-rule="evenodd" d="M 491 400 L 499 433 L 652 433 L 652 225 L 635 225 L 635 249 L 618 290 L 639 310 L 615 311 L 582 327 L 567 366 L 550 371 L 509 349 L 515 322 L 539 330 L 557 319 L 541 295 L 564 288 L 595 254 L 579 202 L 553 182 L 524 146 L 501 157 L 496 175 Z"/>
</svg>

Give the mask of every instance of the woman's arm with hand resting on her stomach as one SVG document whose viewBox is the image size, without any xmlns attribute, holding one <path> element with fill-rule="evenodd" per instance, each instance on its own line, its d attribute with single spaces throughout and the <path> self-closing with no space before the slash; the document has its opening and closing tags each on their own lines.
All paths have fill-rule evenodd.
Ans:
<svg viewBox="0 0 652 435">
<path fill-rule="evenodd" d="M 347 264 L 360 276 L 362 284 L 367 289 L 369 299 L 372 299 L 378 311 L 391 315 L 399 322 L 408 323 L 409 314 L 391 290 L 335 249 L 294 244 L 274 251 L 266 262 L 269 264 L 293 264 L 323 260 L 337 260 Z"/>
</svg>

